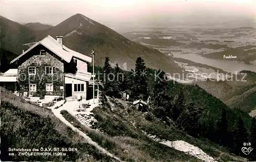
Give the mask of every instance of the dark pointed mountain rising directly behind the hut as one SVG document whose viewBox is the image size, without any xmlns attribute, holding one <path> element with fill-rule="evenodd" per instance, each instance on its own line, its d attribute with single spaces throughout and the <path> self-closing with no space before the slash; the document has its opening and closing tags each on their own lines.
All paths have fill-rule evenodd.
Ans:
<svg viewBox="0 0 256 162">
<path fill-rule="evenodd" d="M 44 31 L 34 31 L 26 25 L 21 25 L 6 18 L 3 19 L 5 19 L 4 24 L 12 24 L 17 29 L 15 31 L 16 34 L 12 34 L 13 29 L 11 26 L 9 26 L 9 30 L 8 26 L 5 25 L 4 29 L 7 31 L 7 34 L 4 39 L 7 40 L 9 36 L 12 36 L 13 39 L 8 40 L 12 45 L 4 46 L 4 48 L 6 47 L 17 54 L 20 54 L 19 51 L 22 50 L 17 50 L 15 47 L 21 44 L 39 41 L 47 35 L 52 37 L 63 36 L 63 44 L 84 55 L 90 53 L 91 49 L 94 48 L 96 65 L 102 66 L 105 57 L 109 57 L 113 61 L 112 64 L 118 63 L 123 67 L 123 64 L 126 63 L 127 70 L 130 70 L 135 67 L 134 63 L 137 57 L 142 57 L 148 67 L 160 68 L 171 73 L 182 72 L 182 69 L 178 67 L 172 57 L 165 56 L 156 49 L 150 49 L 130 41 L 107 26 L 81 14 L 73 15 L 58 25 Z M 1 21 L 1 26 L 3 25 L 2 23 Z M 23 37 L 20 37 L 21 35 Z M 16 37 L 18 39 L 14 40 Z M 28 48 L 25 45 L 22 47 Z"/>
</svg>

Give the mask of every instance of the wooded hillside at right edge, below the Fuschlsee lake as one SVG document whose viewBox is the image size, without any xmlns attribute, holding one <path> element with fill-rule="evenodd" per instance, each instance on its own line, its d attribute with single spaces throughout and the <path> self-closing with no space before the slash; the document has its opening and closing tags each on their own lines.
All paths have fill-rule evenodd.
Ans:
<svg viewBox="0 0 256 162">
<path fill-rule="evenodd" d="M 247 73 L 244 78 L 246 82 L 236 81 L 236 76 L 233 76 L 232 82 L 207 80 L 207 82 L 197 82 L 196 84 L 221 99 L 231 108 L 249 113 L 256 107 L 256 73 L 246 70 L 241 73 Z M 244 74 L 238 75 L 238 79 L 240 80 L 243 76 Z"/>
</svg>

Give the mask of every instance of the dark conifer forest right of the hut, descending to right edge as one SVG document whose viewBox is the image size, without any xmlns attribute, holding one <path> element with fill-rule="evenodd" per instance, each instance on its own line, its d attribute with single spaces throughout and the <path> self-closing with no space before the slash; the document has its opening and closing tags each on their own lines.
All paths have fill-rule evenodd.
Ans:
<svg viewBox="0 0 256 162">
<path fill-rule="evenodd" d="M 220 99 L 208 94 L 198 85 L 184 85 L 168 81 L 164 71 L 147 68 L 144 60 L 137 58 L 135 69 L 122 70 L 118 64 L 114 68 L 110 59 L 105 58 L 104 67 L 95 71 L 109 75 L 103 79 L 102 92 L 110 97 L 121 98 L 122 91 L 131 90 L 131 99 L 150 98 L 149 108 L 157 118 L 173 124 L 195 138 L 206 138 L 230 152 L 256 159 L 256 151 L 249 155 L 242 152 L 242 147 L 256 146 L 256 119 L 238 109 L 230 109 Z M 118 79 L 122 73 L 122 79 Z M 248 146 L 250 144 L 250 146 Z M 246 145 L 246 146 L 244 146 Z M 254 148 L 256 149 L 256 147 Z"/>
</svg>

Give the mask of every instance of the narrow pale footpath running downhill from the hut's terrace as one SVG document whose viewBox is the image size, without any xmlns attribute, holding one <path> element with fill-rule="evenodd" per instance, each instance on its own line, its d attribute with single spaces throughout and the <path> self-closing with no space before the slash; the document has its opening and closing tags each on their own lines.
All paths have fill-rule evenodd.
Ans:
<svg viewBox="0 0 256 162">
<path fill-rule="evenodd" d="M 69 102 L 68 102 L 69 103 Z M 66 104 L 66 103 L 65 103 Z M 65 104 L 63 106 L 65 106 Z M 61 107 L 63 107 L 61 106 Z M 114 156 L 112 153 L 108 152 L 107 150 L 105 150 L 104 148 L 102 148 L 101 146 L 99 146 L 96 142 L 92 141 L 92 139 L 90 137 L 88 137 L 85 133 L 83 133 L 82 131 L 80 131 L 79 129 L 77 129 L 76 127 L 74 127 L 72 124 L 70 124 L 61 114 L 60 111 L 63 110 L 61 109 L 61 107 L 59 107 L 58 109 L 52 109 L 53 114 L 60 120 L 62 121 L 64 124 L 66 124 L 67 126 L 69 126 L 73 131 L 78 132 L 78 134 L 80 136 L 82 136 L 84 139 L 86 139 L 86 141 L 95 146 L 99 151 L 103 152 L 104 154 L 107 154 L 111 157 L 113 157 L 114 159 L 121 161 L 118 157 Z"/>
</svg>

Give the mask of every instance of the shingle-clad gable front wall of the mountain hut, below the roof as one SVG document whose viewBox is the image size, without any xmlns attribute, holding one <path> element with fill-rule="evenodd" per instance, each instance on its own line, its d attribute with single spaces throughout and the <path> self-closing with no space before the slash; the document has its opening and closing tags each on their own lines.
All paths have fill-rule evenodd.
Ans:
<svg viewBox="0 0 256 162">
<path fill-rule="evenodd" d="M 45 51 L 43 51 L 45 50 Z M 17 83 L 19 93 L 31 92 L 33 96 L 44 98 L 45 95 L 64 97 L 65 86 L 64 63 L 53 52 L 39 45 L 27 53 L 25 58 L 18 61 Z M 29 74 L 29 68 L 35 67 L 35 74 Z M 52 74 L 46 73 L 46 68 L 52 68 Z M 47 85 L 53 86 L 53 90 L 47 91 Z M 30 86 L 35 85 L 35 91 Z"/>
</svg>

